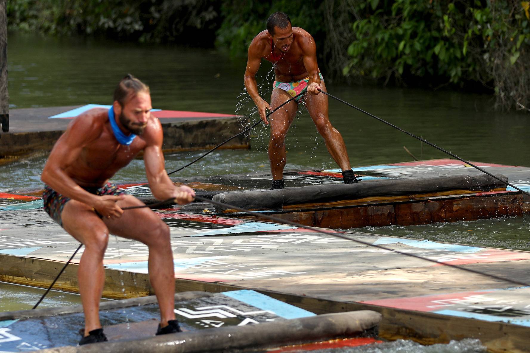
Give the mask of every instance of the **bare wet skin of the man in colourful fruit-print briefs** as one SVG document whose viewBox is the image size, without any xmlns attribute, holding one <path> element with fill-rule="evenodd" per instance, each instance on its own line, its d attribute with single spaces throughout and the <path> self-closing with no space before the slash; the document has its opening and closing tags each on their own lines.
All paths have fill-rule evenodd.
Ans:
<svg viewBox="0 0 530 353">
<path fill-rule="evenodd" d="M 274 47 L 271 48 L 271 40 Z M 305 30 L 287 26 L 285 29 L 275 28 L 274 34 L 264 30 L 251 42 L 248 51 L 244 82 L 247 92 L 258 107 L 261 119 L 268 124 L 266 111 L 288 101 L 291 96 L 285 90 L 274 88 L 271 102 L 267 103 L 258 93 L 255 79 L 261 59 L 270 61 L 275 69 L 276 80 L 293 82 L 309 77 L 307 93 L 301 101 L 305 103 L 317 131 L 322 135 L 326 148 L 342 170 L 351 169 L 348 152 L 342 135 L 333 128 L 328 115 L 328 97 L 319 94 L 325 91 L 320 80 L 319 67 L 316 61 L 316 46 L 311 34 Z M 285 137 L 298 109 L 298 103 L 291 101 L 270 116 L 269 160 L 272 179 L 282 178 L 286 164 Z"/>
</svg>

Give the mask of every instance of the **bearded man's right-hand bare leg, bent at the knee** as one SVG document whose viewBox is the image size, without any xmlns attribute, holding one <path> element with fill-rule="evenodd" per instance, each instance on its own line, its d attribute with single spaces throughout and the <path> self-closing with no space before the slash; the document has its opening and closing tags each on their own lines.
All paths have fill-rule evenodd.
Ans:
<svg viewBox="0 0 530 353">
<path fill-rule="evenodd" d="M 143 205 L 127 195 L 120 207 Z M 104 220 L 110 233 L 138 240 L 149 248 L 149 280 L 160 306 L 160 325 L 175 320 L 175 275 L 169 227 L 149 209 L 126 210 L 118 219 Z"/>
</svg>

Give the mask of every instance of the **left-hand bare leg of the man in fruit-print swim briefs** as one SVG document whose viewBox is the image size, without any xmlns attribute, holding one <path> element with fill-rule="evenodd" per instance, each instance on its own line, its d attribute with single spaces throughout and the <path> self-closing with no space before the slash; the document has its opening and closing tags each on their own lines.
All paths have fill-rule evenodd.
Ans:
<svg viewBox="0 0 530 353">
<path fill-rule="evenodd" d="M 289 98 L 291 96 L 285 90 L 275 88 L 272 90 L 270 105 L 275 108 Z M 298 103 L 291 101 L 270 116 L 269 160 L 273 180 L 280 180 L 284 174 L 287 162 L 285 136 L 293 122 L 297 109 Z"/>
</svg>

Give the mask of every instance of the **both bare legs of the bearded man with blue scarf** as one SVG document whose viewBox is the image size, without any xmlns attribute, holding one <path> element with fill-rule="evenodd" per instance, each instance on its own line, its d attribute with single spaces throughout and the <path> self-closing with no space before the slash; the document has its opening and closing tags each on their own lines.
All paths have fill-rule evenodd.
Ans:
<svg viewBox="0 0 530 353">
<path fill-rule="evenodd" d="M 135 206 L 143 203 L 127 195 L 119 205 Z M 109 231 L 117 236 L 138 240 L 149 248 L 149 279 L 160 306 L 161 327 L 175 319 L 175 276 L 170 234 L 167 225 L 149 209 L 127 210 L 119 219 L 102 221 L 88 205 L 68 201 L 61 213 L 63 227 L 85 245 L 77 277 L 85 313 L 85 336 L 101 328 L 99 303 L 104 285 L 103 256 Z"/>
</svg>

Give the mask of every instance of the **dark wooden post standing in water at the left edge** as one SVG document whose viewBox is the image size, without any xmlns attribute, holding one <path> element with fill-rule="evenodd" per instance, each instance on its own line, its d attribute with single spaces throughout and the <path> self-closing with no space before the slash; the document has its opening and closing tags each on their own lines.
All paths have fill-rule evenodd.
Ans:
<svg viewBox="0 0 530 353">
<path fill-rule="evenodd" d="M 0 125 L 2 125 L 2 131 L 9 131 L 9 95 L 7 93 L 6 0 L 0 0 Z"/>
</svg>

